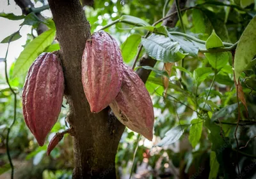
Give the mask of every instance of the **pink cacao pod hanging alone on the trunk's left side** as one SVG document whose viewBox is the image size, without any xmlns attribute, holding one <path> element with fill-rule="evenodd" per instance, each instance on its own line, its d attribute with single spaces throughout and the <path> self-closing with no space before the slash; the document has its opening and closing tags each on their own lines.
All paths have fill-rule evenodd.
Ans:
<svg viewBox="0 0 256 179">
<path fill-rule="evenodd" d="M 64 93 L 64 77 L 58 57 L 43 53 L 31 65 L 22 91 L 26 125 L 40 146 L 58 120 Z"/>
</svg>

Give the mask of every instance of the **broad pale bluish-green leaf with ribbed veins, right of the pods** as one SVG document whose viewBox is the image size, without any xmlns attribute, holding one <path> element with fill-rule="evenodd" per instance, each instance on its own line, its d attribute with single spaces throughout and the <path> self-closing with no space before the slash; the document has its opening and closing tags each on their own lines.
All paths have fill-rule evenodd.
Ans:
<svg viewBox="0 0 256 179">
<path fill-rule="evenodd" d="M 177 62 L 188 54 L 180 52 L 180 45 L 170 41 L 170 38 L 152 34 L 142 38 L 141 43 L 150 57 L 163 62 Z"/>
</svg>

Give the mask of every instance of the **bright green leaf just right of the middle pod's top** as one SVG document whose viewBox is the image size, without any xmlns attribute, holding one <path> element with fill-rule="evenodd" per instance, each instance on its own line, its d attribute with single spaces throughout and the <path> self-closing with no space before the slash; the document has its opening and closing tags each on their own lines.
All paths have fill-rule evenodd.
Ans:
<svg viewBox="0 0 256 179">
<path fill-rule="evenodd" d="M 125 40 L 125 42 L 121 45 L 121 52 L 124 62 L 129 63 L 132 61 L 132 59 L 134 59 L 140 42 L 141 36 L 138 34 L 132 34 Z"/>
</svg>

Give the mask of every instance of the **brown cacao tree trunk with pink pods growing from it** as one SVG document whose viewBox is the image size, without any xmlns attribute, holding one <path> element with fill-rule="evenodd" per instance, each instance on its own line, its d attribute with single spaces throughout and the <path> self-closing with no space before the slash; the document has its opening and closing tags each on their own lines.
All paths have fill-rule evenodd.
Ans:
<svg viewBox="0 0 256 179">
<path fill-rule="evenodd" d="M 67 121 L 74 129 L 74 179 L 116 178 L 115 155 L 124 125 L 109 118 L 108 109 L 90 112 L 81 82 L 81 59 L 90 24 L 78 0 L 49 0 L 65 76 Z"/>
</svg>

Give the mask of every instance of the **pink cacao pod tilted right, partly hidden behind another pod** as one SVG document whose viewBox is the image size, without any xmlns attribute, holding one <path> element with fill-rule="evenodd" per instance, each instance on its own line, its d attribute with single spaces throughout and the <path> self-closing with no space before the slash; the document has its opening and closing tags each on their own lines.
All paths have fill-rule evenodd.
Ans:
<svg viewBox="0 0 256 179">
<path fill-rule="evenodd" d="M 154 110 L 151 97 L 140 77 L 128 66 L 124 65 L 121 90 L 109 106 L 122 124 L 152 140 Z"/>
</svg>

